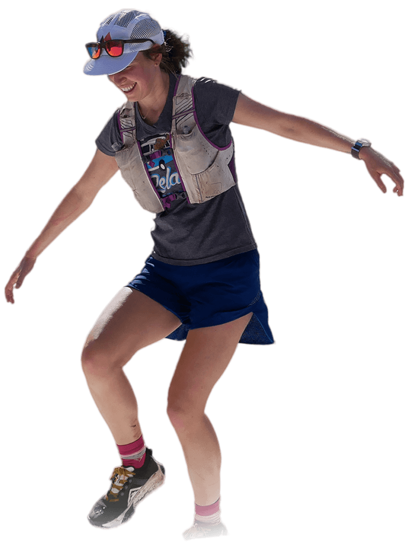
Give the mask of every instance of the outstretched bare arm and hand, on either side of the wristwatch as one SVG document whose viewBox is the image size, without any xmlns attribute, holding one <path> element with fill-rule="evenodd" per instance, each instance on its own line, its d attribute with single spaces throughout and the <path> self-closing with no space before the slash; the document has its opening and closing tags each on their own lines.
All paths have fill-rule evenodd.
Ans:
<svg viewBox="0 0 408 543">
<path fill-rule="evenodd" d="M 341 134 L 326 124 L 319 123 L 308 117 L 287 113 L 269 105 L 257 102 L 247 94 L 240 93 L 232 122 L 244 127 L 265 130 L 286 140 L 306 143 L 314 147 L 331 149 L 339 153 L 351 154 L 356 142 L 353 138 Z M 404 178 L 401 170 L 380 151 L 372 147 L 362 147 L 359 157 L 364 161 L 368 175 L 379 190 L 386 194 L 387 186 L 382 176 L 386 175 L 395 185 L 392 189 L 398 197 L 404 196 Z"/>
</svg>

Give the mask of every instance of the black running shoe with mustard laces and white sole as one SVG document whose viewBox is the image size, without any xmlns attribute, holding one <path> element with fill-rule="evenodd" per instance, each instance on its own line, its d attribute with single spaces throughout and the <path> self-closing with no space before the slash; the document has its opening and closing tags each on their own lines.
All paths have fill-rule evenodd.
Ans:
<svg viewBox="0 0 408 543">
<path fill-rule="evenodd" d="M 94 503 L 87 519 L 91 526 L 102 530 L 119 528 L 129 522 L 136 508 L 165 483 L 165 468 L 146 447 L 146 459 L 142 468 L 113 468 L 109 477 L 110 487 Z"/>
</svg>

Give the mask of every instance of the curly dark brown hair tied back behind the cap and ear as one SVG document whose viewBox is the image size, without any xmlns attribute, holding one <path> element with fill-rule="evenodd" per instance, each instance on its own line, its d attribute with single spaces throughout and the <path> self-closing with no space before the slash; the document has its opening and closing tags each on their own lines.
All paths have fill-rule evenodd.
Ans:
<svg viewBox="0 0 408 543">
<path fill-rule="evenodd" d="M 175 75 L 184 74 L 190 65 L 190 60 L 195 60 L 189 34 L 180 34 L 178 30 L 170 27 L 162 27 L 165 32 L 163 45 L 155 44 L 150 49 L 142 51 L 147 59 L 152 59 L 152 53 L 161 53 L 163 58 L 160 69 L 166 73 Z"/>
</svg>

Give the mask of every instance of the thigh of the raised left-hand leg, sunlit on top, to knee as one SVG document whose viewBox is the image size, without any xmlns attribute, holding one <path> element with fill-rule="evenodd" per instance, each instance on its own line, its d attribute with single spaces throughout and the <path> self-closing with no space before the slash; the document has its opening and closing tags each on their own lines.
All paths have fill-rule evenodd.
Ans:
<svg viewBox="0 0 408 543">
<path fill-rule="evenodd" d="M 160 342 L 181 324 L 174 313 L 135 289 L 113 296 L 88 332 L 82 356 L 127 364 L 140 350 Z"/>
</svg>

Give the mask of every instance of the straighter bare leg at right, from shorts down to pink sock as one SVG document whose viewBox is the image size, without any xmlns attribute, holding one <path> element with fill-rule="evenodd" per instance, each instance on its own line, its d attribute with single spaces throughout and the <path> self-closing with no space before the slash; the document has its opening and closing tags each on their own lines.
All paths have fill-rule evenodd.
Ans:
<svg viewBox="0 0 408 543">
<path fill-rule="evenodd" d="M 190 331 L 169 384 L 167 416 L 179 439 L 194 501 L 201 506 L 214 503 L 221 493 L 221 447 L 206 406 L 251 316 Z"/>
</svg>

